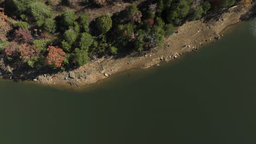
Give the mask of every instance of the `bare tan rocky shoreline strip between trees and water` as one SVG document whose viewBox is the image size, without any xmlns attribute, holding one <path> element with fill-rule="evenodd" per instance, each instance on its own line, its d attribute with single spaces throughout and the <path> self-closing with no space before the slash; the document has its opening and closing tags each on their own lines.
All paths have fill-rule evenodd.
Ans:
<svg viewBox="0 0 256 144">
<path fill-rule="evenodd" d="M 254 4 L 253 4 L 254 5 Z M 90 61 L 84 67 L 67 71 L 52 71 L 46 74 L 42 69 L 14 70 L 0 63 L 0 75 L 5 79 L 33 80 L 45 84 L 83 86 L 105 79 L 109 75 L 135 68 L 149 68 L 182 56 L 186 52 L 196 51 L 203 45 L 214 43 L 222 38 L 222 32 L 230 25 L 254 14 L 254 6 L 235 7 L 225 13 L 205 19 L 191 21 L 177 28 L 177 33 L 166 38 L 163 48 L 144 53 L 134 53 L 122 58 L 108 57 Z"/>
</svg>

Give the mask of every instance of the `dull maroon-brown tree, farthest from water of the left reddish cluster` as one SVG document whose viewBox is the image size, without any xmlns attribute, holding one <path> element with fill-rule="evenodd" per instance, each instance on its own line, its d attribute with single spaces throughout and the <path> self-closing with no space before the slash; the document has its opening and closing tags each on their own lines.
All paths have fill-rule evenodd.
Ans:
<svg viewBox="0 0 256 144">
<path fill-rule="evenodd" d="M 19 43 L 28 43 L 32 39 L 32 35 L 30 31 L 19 28 L 14 32 L 14 39 Z"/>
</svg>

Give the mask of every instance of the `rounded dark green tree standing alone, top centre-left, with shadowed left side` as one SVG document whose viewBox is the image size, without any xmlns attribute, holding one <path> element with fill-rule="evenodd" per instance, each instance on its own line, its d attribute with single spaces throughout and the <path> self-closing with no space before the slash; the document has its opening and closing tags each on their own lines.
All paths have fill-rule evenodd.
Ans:
<svg viewBox="0 0 256 144">
<path fill-rule="evenodd" d="M 99 33 L 106 33 L 112 27 L 112 20 L 111 17 L 107 14 L 101 15 L 97 17 L 95 20 L 96 27 Z"/>
</svg>

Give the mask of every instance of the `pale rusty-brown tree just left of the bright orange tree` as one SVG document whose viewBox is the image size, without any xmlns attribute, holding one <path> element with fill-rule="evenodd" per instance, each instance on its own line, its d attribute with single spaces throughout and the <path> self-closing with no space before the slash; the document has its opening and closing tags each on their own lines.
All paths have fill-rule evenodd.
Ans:
<svg viewBox="0 0 256 144">
<path fill-rule="evenodd" d="M 36 49 L 34 45 L 21 44 L 19 46 L 20 58 L 22 59 L 33 59 L 35 56 L 40 54 L 40 50 Z"/>
</svg>

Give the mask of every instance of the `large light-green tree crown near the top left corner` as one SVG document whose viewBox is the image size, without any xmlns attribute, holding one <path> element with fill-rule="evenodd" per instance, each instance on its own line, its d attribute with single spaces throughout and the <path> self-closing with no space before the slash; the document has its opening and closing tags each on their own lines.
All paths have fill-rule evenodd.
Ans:
<svg viewBox="0 0 256 144">
<path fill-rule="evenodd" d="M 43 23 L 46 18 L 53 16 L 53 10 L 50 7 L 47 7 L 44 3 L 34 2 L 30 4 L 30 12 L 34 20 L 37 22 L 37 26 L 43 26 Z"/>
</svg>

